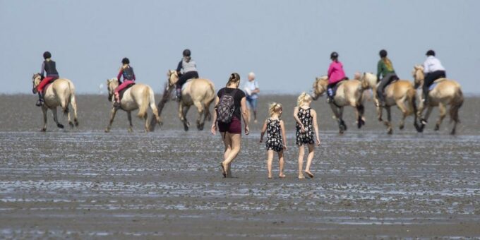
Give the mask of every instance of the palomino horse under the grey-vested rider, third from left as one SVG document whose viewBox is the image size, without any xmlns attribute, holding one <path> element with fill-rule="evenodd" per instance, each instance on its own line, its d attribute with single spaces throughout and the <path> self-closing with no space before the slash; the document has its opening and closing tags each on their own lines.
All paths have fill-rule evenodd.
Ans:
<svg viewBox="0 0 480 240">
<path fill-rule="evenodd" d="M 172 90 L 175 88 L 179 76 L 174 70 L 169 70 L 168 88 Z M 185 83 L 184 89 L 181 90 L 181 100 L 179 103 L 179 119 L 184 124 L 184 130 L 188 131 L 190 123 L 186 119 L 188 109 L 195 105 L 198 110 L 197 129 L 203 130 L 205 120 L 210 121 L 212 116 L 210 114 L 210 104 L 215 100 L 215 86 L 212 81 L 204 78 L 194 78 Z"/>
</svg>

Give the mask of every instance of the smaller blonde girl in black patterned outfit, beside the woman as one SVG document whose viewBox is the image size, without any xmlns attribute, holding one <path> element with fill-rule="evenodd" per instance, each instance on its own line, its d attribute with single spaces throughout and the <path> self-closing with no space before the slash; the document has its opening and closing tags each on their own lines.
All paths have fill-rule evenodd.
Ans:
<svg viewBox="0 0 480 240">
<path fill-rule="evenodd" d="M 267 148 L 267 169 L 268 169 L 268 179 L 272 179 L 272 160 L 273 152 L 278 153 L 278 162 L 280 164 L 280 178 L 284 178 L 283 174 L 283 151 L 287 150 L 287 138 L 285 135 L 285 125 L 280 117 L 282 116 L 282 104 L 272 103 L 270 104 L 269 114 L 270 117 L 265 120 L 263 124 L 262 132 L 260 134 L 260 143 L 263 141 L 263 136 L 265 131 L 267 132 L 267 141 L 265 142 Z"/>
</svg>

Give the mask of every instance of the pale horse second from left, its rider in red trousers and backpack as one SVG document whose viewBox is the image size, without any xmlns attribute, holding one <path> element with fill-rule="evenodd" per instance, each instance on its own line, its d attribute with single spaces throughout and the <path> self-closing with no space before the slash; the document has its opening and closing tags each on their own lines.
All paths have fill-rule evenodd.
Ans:
<svg viewBox="0 0 480 240">
<path fill-rule="evenodd" d="M 119 86 L 119 80 L 116 78 L 108 79 L 107 80 L 107 88 L 108 88 L 108 100 L 114 101 L 114 90 L 116 87 Z M 162 124 L 160 120 L 160 116 L 158 116 L 157 106 L 155 106 L 155 96 L 153 93 L 152 88 L 150 86 L 136 83 L 131 88 L 128 88 L 124 92 L 124 97 L 120 100 L 120 108 L 124 110 L 128 116 L 128 131 L 133 131 L 132 125 L 132 116 L 131 112 L 133 110 L 139 109 L 137 116 L 140 119 L 145 119 L 145 131 L 149 131 L 149 124 L 147 121 L 147 109 L 150 106 L 152 109 L 153 115 L 155 119 L 157 119 L 158 124 Z M 115 114 L 118 108 L 112 107 L 112 114 L 110 115 L 110 122 L 105 129 L 105 132 L 108 133 L 110 128 L 112 127 L 112 123 L 114 122 Z"/>
</svg>

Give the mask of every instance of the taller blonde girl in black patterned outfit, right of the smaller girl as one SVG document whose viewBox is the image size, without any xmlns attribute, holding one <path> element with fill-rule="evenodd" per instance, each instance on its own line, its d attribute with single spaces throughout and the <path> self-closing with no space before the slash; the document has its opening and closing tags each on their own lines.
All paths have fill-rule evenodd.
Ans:
<svg viewBox="0 0 480 240">
<path fill-rule="evenodd" d="M 310 172 L 310 166 L 313 160 L 315 142 L 320 145 L 318 137 L 317 112 L 311 109 L 312 97 L 306 92 L 302 92 L 297 100 L 297 106 L 294 109 L 294 119 L 296 121 L 296 145 L 299 146 L 299 179 L 304 179 L 304 155 L 305 147 L 308 145 L 308 157 L 305 167 L 305 174 L 313 178 Z M 313 134 L 315 133 L 315 139 Z"/>
</svg>

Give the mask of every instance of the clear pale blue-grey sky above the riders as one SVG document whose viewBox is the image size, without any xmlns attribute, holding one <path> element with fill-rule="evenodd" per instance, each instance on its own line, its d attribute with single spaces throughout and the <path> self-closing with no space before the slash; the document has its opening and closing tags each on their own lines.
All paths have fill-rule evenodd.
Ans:
<svg viewBox="0 0 480 240">
<path fill-rule="evenodd" d="M 0 0 L 0 93 L 31 93 L 44 51 L 78 93 L 100 92 L 125 56 L 160 93 L 188 48 L 217 89 L 253 71 L 261 92 L 297 94 L 326 74 L 332 51 L 352 78 L 376 72 L 387 49 L 412 80 L 434 49 L 448 78 L 478 95 L 479 9 L 475 0 Z"/>
</svg>

